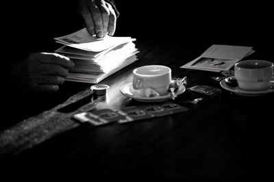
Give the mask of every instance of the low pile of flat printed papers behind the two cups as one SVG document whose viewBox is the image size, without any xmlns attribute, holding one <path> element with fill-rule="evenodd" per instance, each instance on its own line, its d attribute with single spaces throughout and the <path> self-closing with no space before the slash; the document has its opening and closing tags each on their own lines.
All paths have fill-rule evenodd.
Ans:
<svg viewBox="0 0 274 182">
<path fill-rule="evenodd" d="M 195 60 L 180 68 L 219 72 L 229 70 L 234 64 L 254 53 L 252 47 L 214 44 Z"/>
</svg>

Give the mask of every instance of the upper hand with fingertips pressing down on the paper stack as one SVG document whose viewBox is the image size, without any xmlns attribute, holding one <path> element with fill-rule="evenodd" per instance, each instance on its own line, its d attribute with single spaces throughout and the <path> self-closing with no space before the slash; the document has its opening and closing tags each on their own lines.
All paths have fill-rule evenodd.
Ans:
<svg viewBox="0 0 274 182">
<path fill-rule="evenodd" d="M 114 35 L 116 14 L 110 3 L 103 0 L 79 0 L 78 11 L 90 35 L 96 34 L 98 38 Z"/>
</svg>

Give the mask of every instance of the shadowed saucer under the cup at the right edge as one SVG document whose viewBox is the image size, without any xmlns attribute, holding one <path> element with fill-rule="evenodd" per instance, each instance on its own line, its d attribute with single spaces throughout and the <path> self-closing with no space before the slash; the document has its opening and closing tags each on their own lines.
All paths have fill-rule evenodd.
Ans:
<svg viewBox="0 0 274 182">
<path fill-rule="evenodd" d="M 264 94 L 269 94 L 274 92 L 274 83 L 271 81 L 270 86 L 266 90 L 242 90 L 238 87 L 232 87 L 232 86 L 227 86 L 225 83 L 225 79 L 220 81 L 220 85 L 223 89 L 228 90 L 230 92 L 234 92 L 235 94 L 238 95 L 243 95 L 243 96 L 261 96 Z"/>
</svg>

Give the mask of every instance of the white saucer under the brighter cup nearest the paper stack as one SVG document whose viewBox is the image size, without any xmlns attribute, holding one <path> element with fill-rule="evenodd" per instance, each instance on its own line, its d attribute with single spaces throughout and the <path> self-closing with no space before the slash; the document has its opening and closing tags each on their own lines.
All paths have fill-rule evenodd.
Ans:
<svg viewBox="0 0 274 182">
<path fill-rule="evenodd" d="M 169 92 L 162 96 L 153 96 L 153 97 L 140 96 L 140 94 L 138 94 L 138 91 L 132 87 L 132 82 L 126 83 L 125 85 L 121 86 L 120 91 L 125 96 L 129 96 L 130 98 L 136 101 L 141 101 L 141 102 L 161 102 L 161 101 L 166 101 L 171 99 L 171 94 Z M 186 91 L 186 87 L 180 86 L 180 88 L 175 93 L 179 95 L 184 93 L 185 91 Z"/>
</svg>

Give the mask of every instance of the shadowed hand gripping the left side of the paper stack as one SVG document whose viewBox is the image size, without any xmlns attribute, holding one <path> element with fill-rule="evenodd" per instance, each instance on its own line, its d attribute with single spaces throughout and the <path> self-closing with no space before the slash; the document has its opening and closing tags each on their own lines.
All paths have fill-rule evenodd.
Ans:
<svg viewBox="0 0 274 182">
<path fill-rule="evenodd" d="M 57 53 L 30 53 L 14 66 L 12 77 L 23 92 L 56 92 L 74 63 Z"/>
</svg>

